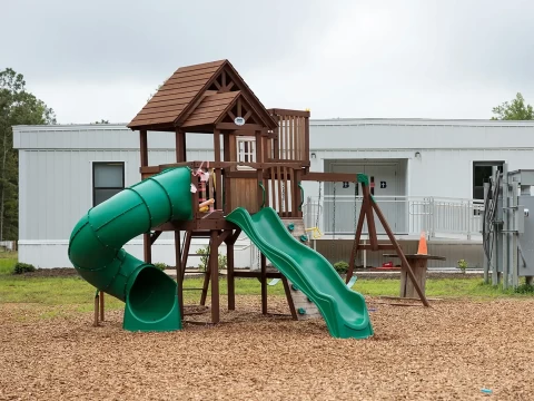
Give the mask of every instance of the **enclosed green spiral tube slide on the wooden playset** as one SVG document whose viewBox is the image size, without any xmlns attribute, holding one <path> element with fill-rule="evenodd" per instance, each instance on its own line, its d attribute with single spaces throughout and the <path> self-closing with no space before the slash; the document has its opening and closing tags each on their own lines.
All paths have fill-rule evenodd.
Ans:
<svg viewBox="0 0 534 401">
<path fill-rule="evenodd" d="M 192 218 L 191 172 L 167 169 L 89 209 L 72 229 L 69 258 L 98 290 L 126 303 L 129 331 L 181 329 L 176 282 L 122 247 L 169 221 Z"/>
</svg>

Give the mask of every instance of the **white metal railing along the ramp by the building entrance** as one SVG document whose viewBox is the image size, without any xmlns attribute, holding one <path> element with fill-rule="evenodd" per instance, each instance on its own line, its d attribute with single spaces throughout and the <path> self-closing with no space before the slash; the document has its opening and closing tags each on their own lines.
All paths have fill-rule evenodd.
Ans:
<svg viewBox="0 0 534 401">
<path fill-rule="evenodd" d="M 425 231 L 428 237 L 467 238 L 481 236 L 484 202 L 478 199 L 375 196 L 387 224 L 396 235 L 419 235 Z M 356 231 L 362 208 L 362 196 L 333 195 L 307 197 L 303 205 L 306 228 L 316 227 L 326 235 L 350 235 Z M 375 214 L 378 234 L 385 234 Z M 367 234 L 367 224 L 364 234 Z"/>
</svg>

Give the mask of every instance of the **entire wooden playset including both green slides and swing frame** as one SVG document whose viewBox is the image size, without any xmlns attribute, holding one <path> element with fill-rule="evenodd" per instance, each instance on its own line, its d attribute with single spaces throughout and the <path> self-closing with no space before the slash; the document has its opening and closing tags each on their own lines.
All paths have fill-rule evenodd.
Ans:
<svg viewBox="0 0 534 401">
<path fill-rule="evenodd" d="M 209 238 L 208 268 L 201 303 L 210 285 L 210 323 L 220 321 L 218 250 L 225 243 L 228 310 L 235 310 L 235 278 L 261 283 L 261 312 L 267 314 L 267 280 L 284 283 L 293 319 L 301 293 L 336 338 L 373 334 L 363 296 L 343 282 L 334 267 L 308 246 L 303 226 L 303 180 L 360 185 L 362 207 L 347 283 L 359 250 L 394 250 L 425 306 L 428 302 L 362 174 L 309 172 L 309 111 L 266 109 L 228 60 L 179 68 L 128 125 L 140 136 L 141 182 L 91 208 L 76 225 L 69 257 L 80 275 L 99 291 L 125 301 L 123 327 L 132 331 L 180 330 L 184 319 L 185 266 L 191 238 Z M 176 163 L 149 166 L 148 131 L 176 135 Z M 186 159 L 186 131 L 214 143 L 214 160 Z M 221 138 L 222 136 L 222 138 Z M 378 244 L 373 212 L 390 244 Z M 360 244 L 364 218 L 370 244 Z M 236 272 L 234 244 L 241 231 L 261 251 L 259 272 Z M 175 233 L 177 281 L 151 265 L 151 245 L 164 232 Z M 181 246 L 180 232 L 185 232 Z M 373 234 L 374 233 L 374 234 Z M 144 261 L 122 246 L 144 235 Z M 320 234 L 320 233 L 319 233 Z M 267 272 L 267 258 L 277 268 Z M 300 309 L 298 309 L 300 310 Z M 96 319 L 98 311 L 96 307 Z"/>
</svg>

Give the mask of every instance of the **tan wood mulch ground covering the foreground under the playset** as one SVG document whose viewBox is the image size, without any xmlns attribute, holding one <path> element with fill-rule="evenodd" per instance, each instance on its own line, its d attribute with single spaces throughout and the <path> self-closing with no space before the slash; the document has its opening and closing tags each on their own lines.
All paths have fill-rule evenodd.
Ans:
<svg viewBox="0 0 534 401">
<path fill-rule="evenodd" d="M 239 296 L 219 326 L 172 333 L 125 332 L 121 312 L 92 327 L 91 313 L 2 304 L 0 399 L 534 398 L 534 300 L 368 302 L 376 334 L 365 341 L 332 339 L 322 320 L 261 316 L 258 296 Z M 269 310 L 287 312 L 284 299 Z"/>
</svg>

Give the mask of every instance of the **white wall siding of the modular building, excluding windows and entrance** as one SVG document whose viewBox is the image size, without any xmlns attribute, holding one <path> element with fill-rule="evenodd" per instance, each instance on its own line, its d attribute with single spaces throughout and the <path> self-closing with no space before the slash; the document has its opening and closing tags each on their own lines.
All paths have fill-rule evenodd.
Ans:
<svg viewBox="0 0 534 401">
<path fill-rule="evenodd" d="M 91 162 L 125 162 L 126 186 L 137 183 L 139 135 L 125 125 L 19 126 L 13 133 L 19 149 L 19 257 L 40 267 L 70 266 L 68 238 L 92 206 Z M 148 146 L 150 165 L 175 160 L 174 133 L 149 133 Z M 215 158 L 209 135 L 188 134 L 187 146 L 188 160 Z M 511 170 L 534 168 L 534 123 L 312 120 L 310 151 L 313 172 L 325 172 L 329 160 L 396 159 L 406 166 L 405 195 L 471 198 L 473 162 L 503 160 Z M 303 185 L 305 197 L 317 196 L 318 183 Z M 237 266 L 250 263 L 249 244 L 243 241 Z M 139 237 L 127 248 L 142 256 Z M 158 239 L 154 255 L 155 262 L 174 264 L 172 234 Z"/>
</svg>

